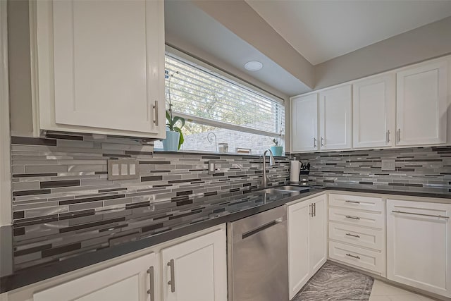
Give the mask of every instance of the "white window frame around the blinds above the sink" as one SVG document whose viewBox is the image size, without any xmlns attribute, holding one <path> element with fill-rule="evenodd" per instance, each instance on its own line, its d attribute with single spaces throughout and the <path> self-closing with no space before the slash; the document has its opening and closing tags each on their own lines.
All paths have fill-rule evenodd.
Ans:
<svg viewBox="0 0 451 301">
<path fill-rule="evenodd" d="M 277 102 L 280 103 L 281 106 L 284 106 L 285 109 L 285 123 L 286 123 L 286 116 L 287 116 L 287 112 L 286 112 L 286 108 L 285 108 L 285 99 L 281 99 L 280 97 L 270 94 L 264 90 L 260 90 L 257 87 L 249 87 L 249 84 L 247 82 L 244 82 L 242 80 L 240 80 L 239 78 L 235 78 L 233 75 L 230 75 L 226 72 L 224 72 L 223 70 L 219 70 L 218 68 L 215 68 L 214 66 L 209 65 L 208 63 L 204 63 L 203 61 L 200 61 L 192 56 L 189 56 L 187 54 L 185 54 L 182 51 L 178 51 L 177 49 L 174 49 L 173 47 L 170 47 L 168 45 L 166 45 L 166 52 L 168 54 L 173 54 L 175 56 L 177 56 L 178 58 L 182 59 L 185 63 L 193 66 L 194 68 L 199 68 L 201 70 L 204 70 L 207 73 L 214 73 L 214 75 L 218 76 L 219 78 L 223 78 L 223 80 L 227 80 L 227 81 L 233 81 L 235 84 L 240 85 L 241 87 L 252 91 L 256 94 L 260 94 L 263 97 L 268 97 L 270 99 L 274 99 Z M 211 71 L 211 72 L 210 72 Z M 271 133 L 271 132 L 267 132 L 264 130 L 257 130 L 257 129 L 253 129 L 253 128 L 247 128 L 245 126 L 241 126 L 241 125 L 233 125 L 230 123 L 225 123 L 225 122 L 221 122 L 221 121 L 214 121 L 211 120 L 209 118 L 202 118 L 199 116 L 193 116 L 187 113 L 182 113 L 179 111 L 175 111 L 174 112 L 177 113 L 177 116 L 183 117 L 185 118 L 185 121 L 188 122 L 193 122 L 193 123 L 199 123 L 202 125 L 209 125 L 209 126 L 213 126 L 216 128 L 224 128 L 227 130 L 236 130 L 239 132 L 245 132 L 245 133 L 252 133 L 252 134 L 257 134 L 257 135 L 264 135 L 266 137 L 275 137 L 278 138 L 279 134 L 278 133 Z M 285 140 L 285 136 L 286 136 L 286 129 L 285 129 L 285 123 L 283 124 L 283 140 Z M 280 130 L 280 129 L 279 129 Z"/>
</svg>

